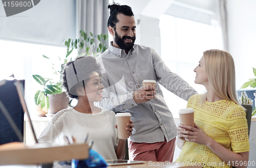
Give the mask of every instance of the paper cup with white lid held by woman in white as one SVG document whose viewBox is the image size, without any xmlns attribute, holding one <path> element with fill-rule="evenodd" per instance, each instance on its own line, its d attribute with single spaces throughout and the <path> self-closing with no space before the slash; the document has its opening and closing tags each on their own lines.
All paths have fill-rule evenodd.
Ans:
<svg viewBox="0 0 256 168">
<path fill-rule="evenodd" d="M 126 124 L 130 124 L 131 114 L 129 112 L 122 112 L 116 114 L 116 123 L 117 123 L 117 131 L 118 131 L 118 137 L 120 139 L 126 139 L 129 138 L 129 134 L 127 133 L 126 128 L 129 128 L 126 126 Z"/>
</svg>

